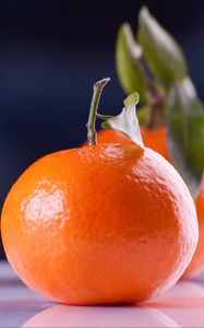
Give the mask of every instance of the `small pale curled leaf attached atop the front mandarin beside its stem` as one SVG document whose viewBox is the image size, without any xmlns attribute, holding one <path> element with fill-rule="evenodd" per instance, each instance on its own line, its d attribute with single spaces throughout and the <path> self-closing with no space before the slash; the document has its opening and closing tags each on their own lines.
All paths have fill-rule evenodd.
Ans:
<svg viewBox="0 0 204 328">
<path fill-rule="evenodd" d="M 121 114 L 107 119 L 103 124 L 104 129 L 115 129 L 127 134 L 140 148 L 144 149 L 141 137 L 139 120 L 136 117 L 136 104 L 139 103 L 139 94 L 134 92 L 124 101 L 124 108 Z"/>
</svg>

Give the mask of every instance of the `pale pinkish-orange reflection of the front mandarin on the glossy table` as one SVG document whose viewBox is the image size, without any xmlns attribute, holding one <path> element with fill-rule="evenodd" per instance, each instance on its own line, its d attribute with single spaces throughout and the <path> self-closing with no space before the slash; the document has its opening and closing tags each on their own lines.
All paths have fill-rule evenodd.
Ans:
<svg viewBox="0 0 204 328">
<path fill-rule="evenodd" d="M 71 307 L 57 305 L 35 315 L 23 328 L 44 327 L 180 327 L 168 316 L 145 307 Z"/>
</svg>

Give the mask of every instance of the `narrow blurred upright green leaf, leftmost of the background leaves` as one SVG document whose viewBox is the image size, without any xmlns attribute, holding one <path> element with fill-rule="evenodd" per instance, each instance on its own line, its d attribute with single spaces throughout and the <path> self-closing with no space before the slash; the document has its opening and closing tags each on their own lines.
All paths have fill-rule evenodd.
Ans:
<svg viewBox="0 0 204 328">
<path fill-rule="evenodd" d="M 120 84 L 127 94 L 139 92 L 141 101 L 145 98 L 145 82 L 140 67 L 133 60 L 132 51 L 141 50 L 136 45 L 128 23 L 120 26 L 116 43 L 116 67 Z"/>
</svg>

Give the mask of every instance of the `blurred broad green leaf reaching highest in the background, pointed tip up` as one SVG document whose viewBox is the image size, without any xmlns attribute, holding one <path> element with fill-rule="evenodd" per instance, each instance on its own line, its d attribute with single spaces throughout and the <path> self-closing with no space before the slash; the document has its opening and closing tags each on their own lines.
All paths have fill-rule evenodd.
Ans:
<svg viewBox="0 0 204 328">
<path fill-rule="evenodd" d="M 164 30 L 148 9 L 139 14 L 137 38 L 152 70 L 166 81 L 181 81 L 188 74 L 183 51 L 175 38 Z"/>
</svg>

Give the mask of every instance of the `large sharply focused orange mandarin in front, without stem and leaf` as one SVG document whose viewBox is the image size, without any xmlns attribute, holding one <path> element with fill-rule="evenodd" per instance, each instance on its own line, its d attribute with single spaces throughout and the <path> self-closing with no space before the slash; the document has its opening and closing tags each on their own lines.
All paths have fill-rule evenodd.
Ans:
<svg viewBox="0 0 204 328">
<path fill-rule="evenodd" d="M 136 145 L 49 154 L 2 210 L 8 259 L 34 291 L 68 304 L 142 302 L 181 277 L 197 243 L 193 200 L 175 168 Z"/>
</svg>

